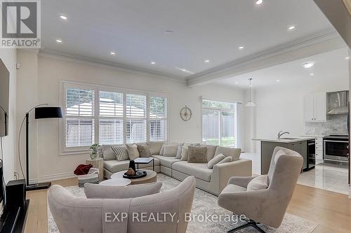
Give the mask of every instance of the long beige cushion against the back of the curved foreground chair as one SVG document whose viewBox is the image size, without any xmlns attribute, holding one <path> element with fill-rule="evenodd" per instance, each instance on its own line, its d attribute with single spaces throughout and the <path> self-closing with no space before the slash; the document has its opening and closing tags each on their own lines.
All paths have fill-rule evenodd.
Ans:
<svg viewBox="0 0 351 233">
<path fill-rule="evenodd" d="M 161 186 L 161 182 L 128 186 L 85 183 L 84 192 L 88 199 L 128 199 L 159 193 Z"/>
</svg>

